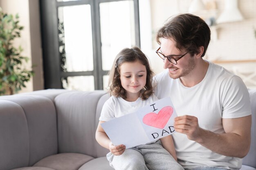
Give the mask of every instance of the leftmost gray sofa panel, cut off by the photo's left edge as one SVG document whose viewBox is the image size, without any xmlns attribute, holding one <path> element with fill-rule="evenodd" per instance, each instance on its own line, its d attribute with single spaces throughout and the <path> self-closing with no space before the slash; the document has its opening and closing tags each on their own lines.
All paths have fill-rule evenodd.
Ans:
<svg viewBox="0 0 256 170">
<path fill-rule="evenodd" d="M 20 105 L 0 100 L 0 169 L 24 167 L 28 163 L 29 131 L 25 113 Z"/>
</svg>

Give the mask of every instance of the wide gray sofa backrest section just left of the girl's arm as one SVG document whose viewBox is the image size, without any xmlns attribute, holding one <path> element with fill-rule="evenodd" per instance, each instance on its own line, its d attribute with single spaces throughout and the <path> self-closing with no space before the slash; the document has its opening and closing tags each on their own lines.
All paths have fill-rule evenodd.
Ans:
<svg viewBox="0 0 256 170">
<path fill-rule="evenodd" d="M 58 152 L 82 153 L 97 157 L 95 112 L 99 98 L 106 92 L 68 92 L 56 96 Z"/>
</svg>

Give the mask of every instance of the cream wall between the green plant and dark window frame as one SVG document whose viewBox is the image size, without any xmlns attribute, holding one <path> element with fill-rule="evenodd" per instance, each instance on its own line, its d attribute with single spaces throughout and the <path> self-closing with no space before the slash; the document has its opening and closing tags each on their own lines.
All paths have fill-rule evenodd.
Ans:
<svg viewBox="0 0 256 170">
<path fill-rule="evenodd" d="M 0 7 L 3 12 L 20 17 L 20 26 L 24 26 L 21 31 L 21 38 L 14 40 L 14 45 L 23 48 L 22 56 L 29 58 L 25 64 L 27 69 L 36 65 L 33 70 L 34 77 L 26 83 L 26 88 L 20 92 L 31 92 L 33 90 L 43 89 L 43 65 L 42 50 L 40 39 L 40 17 L 39 0 L 0 0 Z M 30 8 L 29 8 L 30 7 Z"/>
</svg>

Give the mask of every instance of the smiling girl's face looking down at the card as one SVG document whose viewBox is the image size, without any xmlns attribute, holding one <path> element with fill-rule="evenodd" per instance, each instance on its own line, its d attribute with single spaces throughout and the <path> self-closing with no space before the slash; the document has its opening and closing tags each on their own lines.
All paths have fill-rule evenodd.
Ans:
<svg viewBox="0 0 256 170">
<path fill-rule="evenodd" d="M 146 66 L 139 61 L 125 62 L 120 66 L 121 85 L 127 92 L 126 100 L 135 101 L 146 85 Z"/>
</svg>

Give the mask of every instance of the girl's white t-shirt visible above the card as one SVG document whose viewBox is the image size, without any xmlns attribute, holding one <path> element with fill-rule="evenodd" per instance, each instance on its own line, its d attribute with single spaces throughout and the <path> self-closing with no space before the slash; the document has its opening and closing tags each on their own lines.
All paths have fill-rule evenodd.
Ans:
<svg viewBox="0 0 256 170">
<path fill-rule="evenodd" d="M 150 103 L 158 100 L 153 94 L 147 100 L 142 100 L 140 97 L 134 102 L 128 102 L 121 97 L 111 96 L 103 105 L 101 110 L 100 121 L 107 122 L 114 118 L 134 113 L 141 107 L 149 105 Z"/>
</svg>

